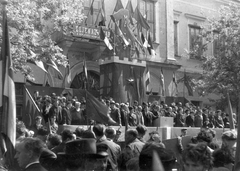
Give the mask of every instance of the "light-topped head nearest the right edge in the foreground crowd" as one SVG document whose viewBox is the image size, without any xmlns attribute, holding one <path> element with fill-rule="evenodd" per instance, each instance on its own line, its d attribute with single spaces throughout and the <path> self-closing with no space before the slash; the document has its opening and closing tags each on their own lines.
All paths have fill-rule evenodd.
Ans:
<svg viewBox="0 0 240 171">
<path fill-rule="evenodd" d="M 222 135 L 222 148 L 227 147 L 235 157 L 237 148 L 237 132 L 234 130 L 225 131 Z"/>
</svg>

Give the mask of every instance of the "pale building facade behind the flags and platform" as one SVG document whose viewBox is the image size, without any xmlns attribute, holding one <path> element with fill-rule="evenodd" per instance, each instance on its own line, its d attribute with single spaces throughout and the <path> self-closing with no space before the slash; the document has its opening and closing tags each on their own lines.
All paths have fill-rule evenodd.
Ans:
<svg viewBox="0 0 240 171">
<path fill-rule="evenodd" d="M 135 65 L 134 62 L 136 61 L 133 58 L 136 53 L 135 51 L 125 53 L 125 49 L 118 49 L 118 51 L 109 50 L 100 39 L 100 30 L 97 26 L 100 9 L 105 9 L 106 26 L 103 27 L 103 30 L 110 37 L 110 30 L 108 28 L 113 25 L 110 15 L 114 14 L 114 9 L 119 1 L 105 0 L 103 5 L 102 0 L 95 0 L 93 3 L 93 13 L 90 14 L 92 1 L 85 0 L 83 12 L 87 18 L 83 21 L 82 25 L 77 26 L 73 34 L 63 35 L 59 32 L 53 36 L 53 39 L 63 48 L 64 54 L 69 59 L 70 79 L 68 81 L 66 79 L 59 79 L 53 70 L 49 70 L 50 74 L 46 74 L 37 68 L 37 66 L 30 64 L 34 70 L 35 83 L 43 86 L 82 89 L 85 85 L 83 69 L 84 66 L 87 66 L 88 88 L 98 92 L 100 96 L 107 96 L 107 94 L 102 94 L 103 91 L 101 91 L 104 84 L 101 76 L 101 65 L 104 61 L 114 61 L 117 57 L 117 63 L 126 63 L 130 68 L 131 65 Z M 123 8 L 125 8 L 128 0 L 121 0 L 121 2 Z M 145 71 L 148 69 L 150 72 L 151 81 L 145 93 L 151 93 L 153 97 L 151 100 L 166 100 L 166 97 L 170 96 L 169 85 L 173 80 L 174 74 L 176 82 L 183 78 L 184 73 L 193 78 L 202 74 L 201 61 L 192 58 L 186 51 L 191 49 L 194 37 L 199 34 L 200 26 L 205 24 L 208 17 L 217 16 L 219 7 L 227 5 L 228 1 L 131 0 L 131 2 L 133 10 L 138 7 L 142 16 L 148 21 L 153 48 L 156 52 L 155 55 L 149 55 L 146 50 L 137 59 L 138 62 L 144 61 Z M 147 35 L 146 32 L 144 33 Z M 212 54 L 213 51 L 213 45 L 209 45 L 207 53 Z M 121 61 L 119 62 L 119 60 Z M 86 65 L 84 65 L 84 61 L 86 61 Z M 60 67 L 60 70 L 63 75 L 69 72 L 63 67 Z M 161 73 L 164 77 L 164 94 L 160 92 L 162 88 L 160 86 Z M 144 74 L 146 73 L 143 72 L 139 76 L 145 77 Z M 118 84 L 114 85 L 118 86 Z M 214 100 L 218 98 L 217 95 L 203 96 L 202 92 L 198 90 L 195 90 L 193 95 L 189 95 L 187 87 L 184 86 L 183 82 L 179 82 L 177 86 L 178 92 L 175 96 L 192 101 L 196 105 L 212 105 Z M 112 87 L 112 89 L 116 89 L 116 87 Z"/>
</svg>

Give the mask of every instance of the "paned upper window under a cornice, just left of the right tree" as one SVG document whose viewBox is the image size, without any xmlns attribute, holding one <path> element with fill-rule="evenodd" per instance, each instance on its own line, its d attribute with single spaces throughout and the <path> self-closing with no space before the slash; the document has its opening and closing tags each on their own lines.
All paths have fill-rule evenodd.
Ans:
<svg viewBox="0 0 240 171">
<path fill-rule="evenodd" d="M 189 46 L 190 58 L 201 58 L 203 41 L 200 36 L 201 28 L 195 25 L 189 25 Z"/>
</svg>

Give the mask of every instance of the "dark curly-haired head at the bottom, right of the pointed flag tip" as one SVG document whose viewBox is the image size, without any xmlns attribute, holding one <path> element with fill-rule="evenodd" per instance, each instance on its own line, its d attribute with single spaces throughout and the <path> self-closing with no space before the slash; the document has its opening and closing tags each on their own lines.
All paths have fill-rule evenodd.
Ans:
<svg viewBox="0 0 240 171">
<path fill-rule="evenodd" d="M 185 171 L 209 171 L 213 165 L 210 149 L 206 144 L 189 144 L 182 153 Z"/>
</svg>

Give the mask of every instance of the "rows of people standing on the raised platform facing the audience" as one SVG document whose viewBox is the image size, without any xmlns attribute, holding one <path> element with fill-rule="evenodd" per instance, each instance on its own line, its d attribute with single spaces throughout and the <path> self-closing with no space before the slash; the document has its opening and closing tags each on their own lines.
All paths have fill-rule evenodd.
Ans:
<svg viewBox="0 0 240 171">
<path fill-rule="evenodd" d="M 38 94 L 38 93 L 37 93 Z M 52 127 L 57 125 L 89 125 L 94 123 L 87 117 L 86 101 L 84 98 L 78 100 L 76 96 L 68 99 L 64 96 L 35 96 L 36 103 L 42 113 L 44 121 L 51 122 Z M 209 127 L 209 128 L 229 128 L 229 115 L 221 110 L 211 110 L 200 108 L 191 103 L 182 104 L 164 102 L 139 104 L 134 101 L 130 106 L 126 103 L 116 103 L 113 99 L 101 100 L 109 108 L 108 116 L 111 119 L 110 125 L 154 126 L 154 121 L 159 117 L 172 117 L 175 127 Z M 236 124 L 236 115 L 233 114 Z M 55 126 L 54 126 L 55 125 Z M 53 129 L 56 132 L 55 129 Z"/>
</svg>

